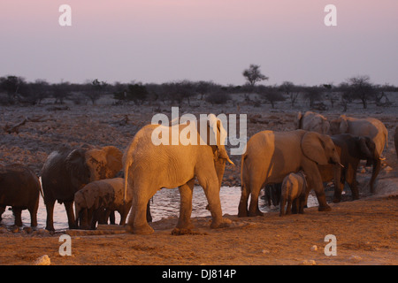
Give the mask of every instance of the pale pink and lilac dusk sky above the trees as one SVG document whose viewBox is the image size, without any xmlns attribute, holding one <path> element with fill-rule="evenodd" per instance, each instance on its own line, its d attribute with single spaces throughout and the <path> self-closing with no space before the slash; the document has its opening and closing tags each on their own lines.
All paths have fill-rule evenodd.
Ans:
<svg viewBox="0 0 398 283">
<path fill-rule="evenodd" d="M 72 27 L 58 24 L 61 4 Z M 256 64 L 268 85 L 398 85 L 397 0 L 1 0 L 0 39 L 0 76 L 28 81 L 241 85 Z"/>
</svg>

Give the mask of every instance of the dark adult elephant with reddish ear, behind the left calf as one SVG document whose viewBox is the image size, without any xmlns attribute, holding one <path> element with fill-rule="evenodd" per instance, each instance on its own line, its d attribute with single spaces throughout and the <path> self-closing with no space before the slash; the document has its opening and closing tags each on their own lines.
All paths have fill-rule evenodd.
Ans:
<svg viewBox="0 0 398 283">
<path fill-rule="evenodd" d="M 122 169 L 123 153 L 113 147 L 101 149 L 62 146 L 50 153 L 42 166 L 42 190 L 47 210 L 46 229 L 54 231 L 54 203 L 65 204 L 70 229 L 75 228 L 74 194 L 91 181 L 113 178 Z"/>
</svg>

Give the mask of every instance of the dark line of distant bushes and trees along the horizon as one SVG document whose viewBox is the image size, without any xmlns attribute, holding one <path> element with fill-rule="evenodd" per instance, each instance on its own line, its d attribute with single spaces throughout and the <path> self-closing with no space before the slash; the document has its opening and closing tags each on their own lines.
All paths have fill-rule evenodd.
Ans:
<svg viewBox="0 0 398 283">
<path fill-rule="evenodd" d="M 141 105 L 162 102 L 180 105 L 190 104 L 192 98 L 207 103 L 222 104 L 231 100 L 233 94 L 240 94 L 246 102 L 255 106 L 271 103 L 273 108 L 276 102 L 288 101 L 293 107 L 300 97 L 308 100 L 310 108 L 325 110 L 323 108 L 328 101 L 332 107 L 339 104 L 347 110 L 348 103 L 354 100 L 360 100 L 364 108 L 367 108 L 370 101 L 379 106 L 388 106 L 391 103 L 387 95 L 398 92 L 398 88 L 392 85 L 372 84 L 368 76 L 353 77 L 339 85 L 323 84 L 311 87 L 295 85 L 290 81 L 273 86 L 256 85 L 255 82 L 248 80 L 248 83 L 241 86 L 220 85 L 203 80 L 179 80 L 161 84 L 141 82 L 110 84 L 92 80 L 77 84 L 49 83 L 46 80 L 29 82 L 19 76 L 9 75 L 0 77 L 0 104 L 40 104 L 47 98 L 53 98 L 54 103 L 72 100 L 76 104 L 88 102 L 96 104 L 105 95 L 113 96 L 115 104 L 133 102 Z M 257 98 L 253 100 L 250 94 L 256 94 Z"/>
</svg>

